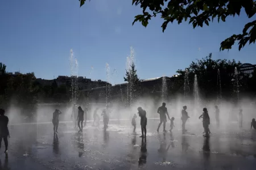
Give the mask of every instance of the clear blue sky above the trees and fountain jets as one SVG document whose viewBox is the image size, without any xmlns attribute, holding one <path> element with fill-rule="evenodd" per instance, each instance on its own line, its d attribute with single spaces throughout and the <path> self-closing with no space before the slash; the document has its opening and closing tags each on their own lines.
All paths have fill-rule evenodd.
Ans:
<svg viewBox="0 0 256 170">
<path fill-rule="evenodd" d="M 256 44 L 240 52 L 238 46 L 219 52 L 222 40 L 241 33 L 243 25 L 255 19 L 248 20 L 245 12 L 210 27 L 169 24 L 163 33 L 160 18 L 151 20 L 147 28 L 141 23 L 132 26 L 141 9 L 131 6 L 131 0 L 92 0 L 79 6 L 78 0 L 0 1 L 0 62 L 7 71 L 33 71 L 44 79 L 70 75 L 72 48 L 80 76 L 105 80 L 108 62 L 112 71 L 117 70 L 112 83 L 121 83 L 130 46 L 142 79 L 171 76 L 211 52 L 213 58 L 256 64 Z M 91 66 L 94 70 L 89 74 Z"/>
</svg>

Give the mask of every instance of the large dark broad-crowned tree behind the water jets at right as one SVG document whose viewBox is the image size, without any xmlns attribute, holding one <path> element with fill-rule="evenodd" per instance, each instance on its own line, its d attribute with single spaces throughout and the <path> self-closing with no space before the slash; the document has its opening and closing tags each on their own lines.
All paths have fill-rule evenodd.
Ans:
<svg viewBox="0 0 256 170">
<path fill-rule="evenodd" d="M 218 90 L 217 87 L 217 74 L 218 69 L 220 70 L 220 78 L 221 78 L 221 88 L 222 88 L 222 96 L 224 97 L 232 97 L 230 94 L 233 94 L 233 80 L 234 79 L 234 70 L 235 67 L 241 66 L 241 62 L 236 62 L 234 59 L 232 61 L 227 59 L 212 59 L 212 53 L 209 56 L 197 59 L 197 62 L 192 62 L 188 68 L 188 76 L 189 76 L 189 84 L 191 85 L 191 89 L 193 86 L 193 80 L 195 74 L 197 75 L 197 82 L 201 93 L 205 94 L 204 97 L 210 98 L 216 96 L 216 92 Z M 177 73 L 180 74 L 179 79 L 183 80 L 184 83 L 184 75 L 185 71 L 177 70 Z M 243 73 L 239 75 L 241 78 L 245 76 Z M 183 83 L 180 83 L 179 86 Z M 245 86 L 243 81 L 240 79 L 240 85 Z M 193 91 L 191 91 L 192 93 Z M 234 94 L 233 94 L 234 95 Z"/>
</svg>

